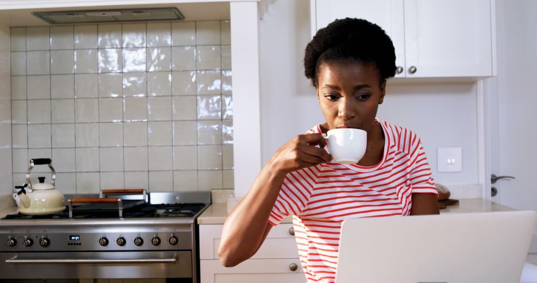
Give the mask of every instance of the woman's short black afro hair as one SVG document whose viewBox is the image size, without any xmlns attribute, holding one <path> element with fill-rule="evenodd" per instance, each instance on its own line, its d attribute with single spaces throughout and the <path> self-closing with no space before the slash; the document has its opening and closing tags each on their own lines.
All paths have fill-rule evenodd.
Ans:
<svg viewBox="0 0 537 283">
<path fill-rule="evenodd" d="M 337 19 L 317 31 L 306 46 L 304 74 L 317 87 L 319 68 L 349 59 L 373 64 L 380 83 L 395 76 L 395 49 L 384 30 L 364 19 Z"/>
</svg>

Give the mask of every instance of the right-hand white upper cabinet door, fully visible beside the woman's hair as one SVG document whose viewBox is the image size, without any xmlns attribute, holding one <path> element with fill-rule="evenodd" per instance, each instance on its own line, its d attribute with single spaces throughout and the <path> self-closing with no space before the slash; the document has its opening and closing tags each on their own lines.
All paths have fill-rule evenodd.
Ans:
<svg viewBox="0 0 537 283">
<path fill-rule="evenodd" d="M 407 78 L 492 76 L 490 0 L 405 0 L 404 29 Z"/>
</svg>

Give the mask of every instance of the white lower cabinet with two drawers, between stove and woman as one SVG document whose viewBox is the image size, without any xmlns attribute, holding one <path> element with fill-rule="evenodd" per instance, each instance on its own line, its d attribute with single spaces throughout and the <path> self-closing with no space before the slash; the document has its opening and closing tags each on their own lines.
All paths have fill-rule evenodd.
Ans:
<svg viewBox="0 0 537 283">
<path fill-rule="evenodd" d="M 255 255 L 234 267 L 224 267 L 218 259 L 223 225 L 200 225 L 201 283 L 305 282 L 292 224 L 271 229 Z"/>
</svg>

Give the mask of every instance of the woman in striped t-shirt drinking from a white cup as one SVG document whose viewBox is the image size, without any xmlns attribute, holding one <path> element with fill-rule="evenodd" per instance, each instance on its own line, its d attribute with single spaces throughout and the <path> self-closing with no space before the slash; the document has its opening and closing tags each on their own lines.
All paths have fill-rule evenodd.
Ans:
<svg viewBox="0 0 537 283">
<path fill-rule="evenodd" d="M 420 139 L 375 118 L 395 69 L 393 43 L 377 25 L 346 18 L 317 32 L 306 47 L 304 70 L 326 122 L 282 145 L 229 214 L 219 248 L 224 266 L 250 258 L 271 227 L 293 215 L 308 282 L 333 282 L 343 220 L 438 214 Z M 323 136 L 336 128 L 367 131 L 357 164 L 330 162 Z"/>
</svg>

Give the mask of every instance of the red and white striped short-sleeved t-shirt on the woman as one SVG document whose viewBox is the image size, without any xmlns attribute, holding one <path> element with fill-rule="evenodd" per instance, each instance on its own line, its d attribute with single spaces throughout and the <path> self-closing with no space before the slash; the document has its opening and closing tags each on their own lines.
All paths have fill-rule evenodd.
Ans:
<svg viewBox="0 0 537 283">
<path fill-rule="evenodd" d="M 409 215 L 412 193 L 435 193 L 429 163 L 415 133 L 376 120 L 384 154 L 375 166 L 323 163 L 287 174 L 269 217 L 293 215 L 300 262 L 308 282 L 333 282 L 341 222 L 349 218 Z M 307 133 L 321 133 L 319 125 Z"/>
</svg>

